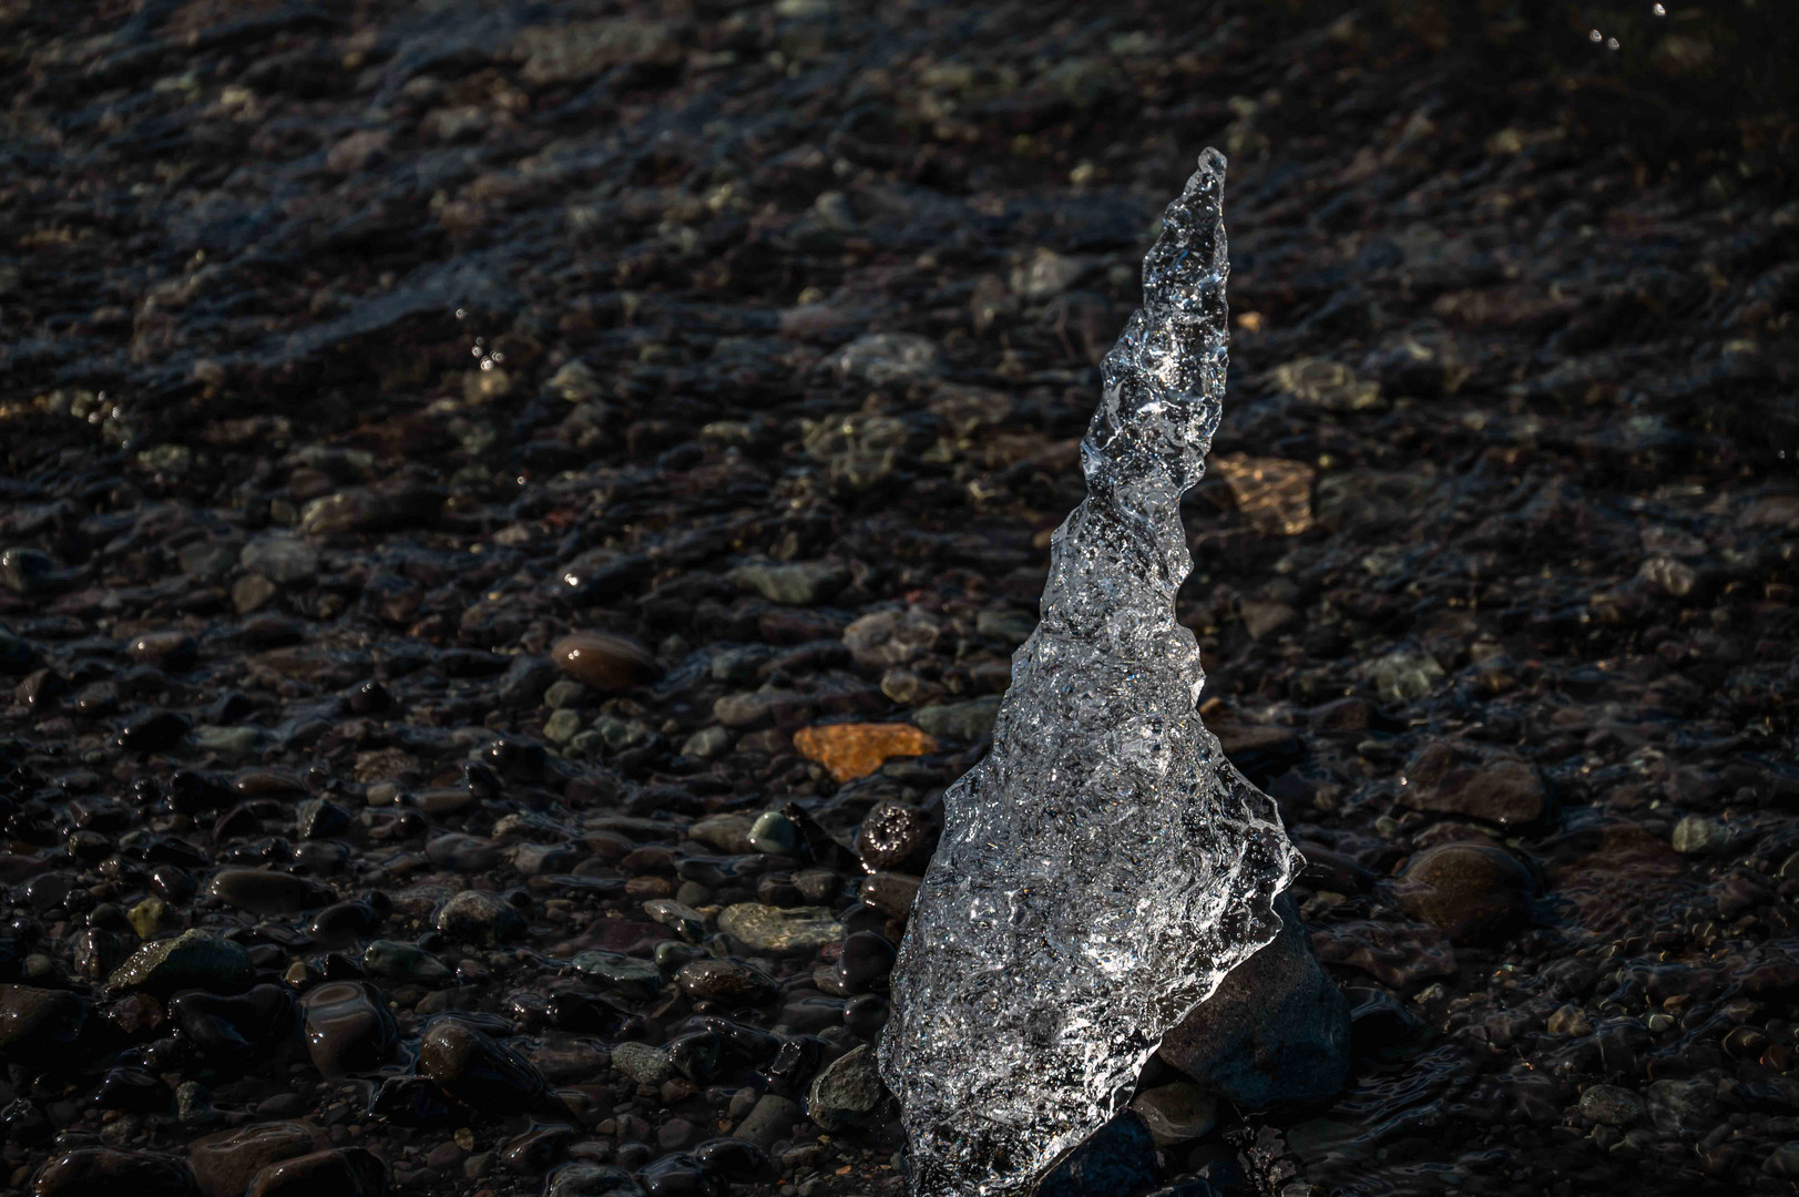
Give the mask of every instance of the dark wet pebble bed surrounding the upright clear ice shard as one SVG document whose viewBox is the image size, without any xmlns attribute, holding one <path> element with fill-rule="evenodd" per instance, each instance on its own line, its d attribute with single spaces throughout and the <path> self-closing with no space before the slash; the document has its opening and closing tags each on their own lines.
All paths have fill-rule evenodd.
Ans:
<svg viewBox="0 0 1799 1197">
<path fill-rule="evenodd" d="M 1177 610 L 1347 1075 L 1079 1175 L 1792 1192 L 1777 7 L 0 7 L 0 1181 L 900 1193 L 883 945 L 1218 144 Z"/>
</svg>

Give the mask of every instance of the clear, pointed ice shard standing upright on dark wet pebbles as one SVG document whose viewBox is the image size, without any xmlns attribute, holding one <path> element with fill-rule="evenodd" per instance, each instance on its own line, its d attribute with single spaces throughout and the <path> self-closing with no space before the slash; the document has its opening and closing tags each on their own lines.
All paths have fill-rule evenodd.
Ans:
<svg viewBox="0 0 1799 1197">
<path fill-rule="evenodd" d="M 944 832 L 892 977 L 882 1078 L 914 1197 L 1027 1193 L 1128 1100 L 1171 1028 L 1274 940 L 1299 857 L 1200 722 L 1180 495 L 1225 389 L 1225 158 L 1168 205 L 1105 358 L 1087 499 Z"/>
</svg>

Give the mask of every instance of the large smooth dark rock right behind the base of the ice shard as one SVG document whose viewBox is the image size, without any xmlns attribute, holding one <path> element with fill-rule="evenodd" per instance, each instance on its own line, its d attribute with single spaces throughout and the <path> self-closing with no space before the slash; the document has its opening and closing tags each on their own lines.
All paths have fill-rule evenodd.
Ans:
<svg viewBox="0 0 1799 1197">
<path fill-rule="evenodd" d="M 1319 965 L 1292 895 L 1281 934 L 1162 1039 L 1162 1058 L 1243 1109 L 1328 1098 L 1349 1071 L 1349 1003 Z"/>
</svg>

